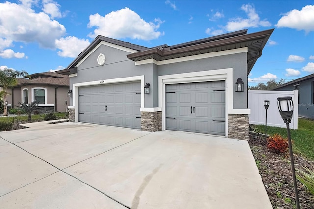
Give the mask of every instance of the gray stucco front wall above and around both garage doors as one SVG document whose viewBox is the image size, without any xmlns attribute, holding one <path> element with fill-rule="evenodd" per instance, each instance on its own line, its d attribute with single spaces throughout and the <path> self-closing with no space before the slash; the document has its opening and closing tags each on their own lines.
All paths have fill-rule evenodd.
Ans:
<svg viewBox="0 0 314 209">
<path fill-rule="evenodd" d="M 99 66 L 96 61 L 100 53 L 106 57 L 103 66 Z M 152 63 L 135 66 L 135 63 L 127 58 L 127 54 L 130 53 L 101 45 L 78 66 L 78 76 L 70 78 L 70 89 L 73 83 L 144 75 L 145 84 L 150 83 L 150 94 L 145 95 L 145 107 L 158 107 L 158 76 L 233 68 L 234 85 L 237 78 L 242 78 L 245 83 L 244 92 L 235 92 L 234 89 L 233 107 L 247 108 L 247 53 L 158 66 Z M 72 100 L 70 105 L 73 105 Z"/>
</svg>

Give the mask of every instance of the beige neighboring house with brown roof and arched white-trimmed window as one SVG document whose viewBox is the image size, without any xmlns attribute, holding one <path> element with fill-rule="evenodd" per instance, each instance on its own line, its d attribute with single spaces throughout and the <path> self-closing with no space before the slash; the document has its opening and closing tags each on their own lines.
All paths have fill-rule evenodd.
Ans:
<svg viewBox="0 0 314 209">
<path fill-rule="evenodd" d="M 8 89 L 8 109 L 19 106 L 18 102 L 39 101 L 40 113 L 65 112 L 69 103 L 69 76 L 53 72 L 35 73 L 30 79 L 18 78 L 18 84 Z"/>
</svg>

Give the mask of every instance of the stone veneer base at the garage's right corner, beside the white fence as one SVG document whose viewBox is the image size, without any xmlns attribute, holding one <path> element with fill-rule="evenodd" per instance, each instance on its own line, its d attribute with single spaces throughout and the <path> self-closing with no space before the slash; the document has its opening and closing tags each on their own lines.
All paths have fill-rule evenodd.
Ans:
<svg viewBox="0 0 314 209">
<path fill-rule="evenodd" d="M 249 116 L 228 114 L 228 138 L 249 140 Z"/>
</svg>

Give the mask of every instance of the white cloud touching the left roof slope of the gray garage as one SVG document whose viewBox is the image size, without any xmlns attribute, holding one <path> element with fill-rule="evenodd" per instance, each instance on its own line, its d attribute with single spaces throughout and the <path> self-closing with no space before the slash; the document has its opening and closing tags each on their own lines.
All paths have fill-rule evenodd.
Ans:
<svg viewBox="0 0 314 209">
<path fill-rule="evenodd" d="M 66 38 L 60 38 L 55 40 L 55 46 L 60 49 L 58 55 L 61 57 L 75 58 L 80 52 L 82 52 L 89 45 L 87 39 L 79 39 L 74 36 L 68 36 Z"/>
</svg>

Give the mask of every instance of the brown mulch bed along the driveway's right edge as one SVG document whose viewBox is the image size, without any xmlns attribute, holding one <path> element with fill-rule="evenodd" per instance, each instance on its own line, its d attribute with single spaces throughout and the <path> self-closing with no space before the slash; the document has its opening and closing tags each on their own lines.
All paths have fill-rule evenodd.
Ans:
<svg viewBox="0 0 314 209">
<path fill-rule="evenodd" d="M 250 135 L 249 145 L 259 168 L 270 202 L 274 209 L 292 209 L 295 206 L 295 194 L 289 151 L 285 154 L 270 152 L 264 138 Z M 294 154 L 295 169 L 307 167 L 314 170 L 314 161 Z M 297 171 L 296 171 L 297 173 Z M 301 209 L 314 209 L 314 196 L 305 191 L 297 180 Z"/>
</svg>

